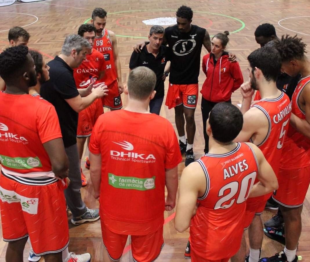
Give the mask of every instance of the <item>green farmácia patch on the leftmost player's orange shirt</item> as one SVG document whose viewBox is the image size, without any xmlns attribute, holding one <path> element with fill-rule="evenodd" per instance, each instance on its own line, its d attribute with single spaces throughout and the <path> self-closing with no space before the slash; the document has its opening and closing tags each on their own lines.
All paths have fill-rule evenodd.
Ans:
<svg viewBox="0 0 310 262">
<path fill-rule="evenodd" d="M 9 168 L 31 169 L 42 167 L 41 161 L 38 157 L 9 157 L 0 155 L 0 161 L 3 166 Z"/>
</svg>

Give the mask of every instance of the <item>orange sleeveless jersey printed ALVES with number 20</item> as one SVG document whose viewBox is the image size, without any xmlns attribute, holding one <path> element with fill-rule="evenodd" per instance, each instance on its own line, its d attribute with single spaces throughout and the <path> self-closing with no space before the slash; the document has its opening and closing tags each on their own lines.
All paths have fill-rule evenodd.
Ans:
<svg viewBox="0 0 310 262">
<path fill-rule="evenodd" d="M 206 154 L 197 161 L 206 176 L 206 192 L 190 225 L 195 254 L 219 260 L 239 250 L 246 199 L 254 185 L 258 163 L 246 143 L 227 154 Z"/>
</svg>

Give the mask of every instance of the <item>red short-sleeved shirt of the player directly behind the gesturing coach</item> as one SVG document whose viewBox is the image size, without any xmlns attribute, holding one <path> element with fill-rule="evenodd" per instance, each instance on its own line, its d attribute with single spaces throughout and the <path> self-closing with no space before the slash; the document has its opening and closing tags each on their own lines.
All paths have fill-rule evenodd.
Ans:
<svg viewBox="0 0 310 262">
<path fill-rule="evenodd" d="M 86 55 L 86 59 L 80 66 L 73 70 L 75 85 L 77 88 L 86 88 L 93 81 L 103 82 L 102 79 L 99 81 L 99 74 L 104 70 L 104 56 L 93 49 L 91 54 Z"/>
</svg>

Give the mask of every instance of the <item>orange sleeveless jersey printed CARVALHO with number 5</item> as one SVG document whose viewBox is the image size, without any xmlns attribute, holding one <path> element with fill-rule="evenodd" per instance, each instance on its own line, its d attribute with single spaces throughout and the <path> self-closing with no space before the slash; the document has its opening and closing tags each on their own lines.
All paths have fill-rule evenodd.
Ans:
<svg viewBox="0 0 310 262">
<path fill-rule="evenodd" d="M 269 122 L 268 133 L 259 149 L 271 165 L 276 176 L 279 172 L 283 141 L 287 134 L 290 122 L 291 103 L 290 98 L 282 92 L 278 98 L 261 99 L 253 107 L 263 111 Z M 252 142 L 252 139 L 250 139 Z M 258 182 L 258 181 L 256 181 Z"/>
</svg>

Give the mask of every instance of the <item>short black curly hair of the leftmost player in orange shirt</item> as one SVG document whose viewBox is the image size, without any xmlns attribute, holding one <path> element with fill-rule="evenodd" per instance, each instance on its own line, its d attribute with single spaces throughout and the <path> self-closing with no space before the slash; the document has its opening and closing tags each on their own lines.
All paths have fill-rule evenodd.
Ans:
<svg viewBox="0 0 310 262">
<path fill-rule="evenodd" d="M 5 82 L 19 77 L 28 62 L 28 47 L 19 45 L 9 47 L 0 54 L 0 76 Z"/>
</svg>

